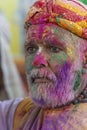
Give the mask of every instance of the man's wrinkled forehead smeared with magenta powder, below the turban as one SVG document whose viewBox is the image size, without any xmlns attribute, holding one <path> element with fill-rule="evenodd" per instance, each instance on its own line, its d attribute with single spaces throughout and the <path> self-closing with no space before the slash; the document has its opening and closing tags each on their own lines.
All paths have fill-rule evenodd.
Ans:
<svg viewBox="0 0 87 130">
<path fill-rule="evenodd" d="M 55 24 L 39 24 L 32 25 L 27 30 L 26 40 L 33 41 L 52 41 L 61 43 L 73 44 L 73 39 L 70 32 Z"/>
</svg>

